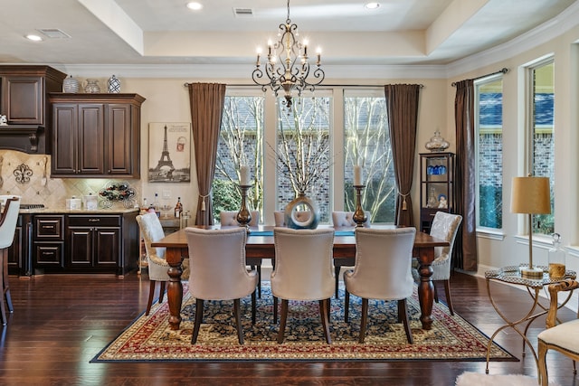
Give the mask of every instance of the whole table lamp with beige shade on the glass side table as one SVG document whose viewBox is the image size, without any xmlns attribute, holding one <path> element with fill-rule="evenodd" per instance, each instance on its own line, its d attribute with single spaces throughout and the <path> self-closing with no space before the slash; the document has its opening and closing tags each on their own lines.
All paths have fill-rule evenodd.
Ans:
<svg viewBox="0 0 579 386">
<path fill-rule="evenodd" d="M 543 269 L 533 267 L 533 214 L 551 212 L 548 177 L 513 177 L 510 212 L 528 215 L 528 267 L 520 268 L 521 275 L 543 278 Z"/>
</svg>

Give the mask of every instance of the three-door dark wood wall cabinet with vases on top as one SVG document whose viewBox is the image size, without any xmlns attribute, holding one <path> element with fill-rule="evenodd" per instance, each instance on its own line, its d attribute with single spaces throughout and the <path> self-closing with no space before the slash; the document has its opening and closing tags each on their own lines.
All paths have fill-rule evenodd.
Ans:
<svg viewBox="0 0 579 386">
<path fill-rule="evenodd" d="M 51 94 L 52 175 L 140 177 L 138 94 Z"/>
</svg>

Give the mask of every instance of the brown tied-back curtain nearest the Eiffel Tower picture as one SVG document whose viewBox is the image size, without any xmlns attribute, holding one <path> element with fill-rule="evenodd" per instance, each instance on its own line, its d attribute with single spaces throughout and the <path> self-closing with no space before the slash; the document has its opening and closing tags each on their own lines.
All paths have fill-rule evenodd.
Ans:
<svg viewBox="0 0 579 386">
<path fill-rule="evenodd" d="M 225 103 L 225 85 L 218 83 L 190 83 L 189 102 L 195 144 L 195 167 L 199 197 L 196 225 L 213 225 L 214 210 L 211 185 L 214 180 L 217 143 Z"/>
</svg>

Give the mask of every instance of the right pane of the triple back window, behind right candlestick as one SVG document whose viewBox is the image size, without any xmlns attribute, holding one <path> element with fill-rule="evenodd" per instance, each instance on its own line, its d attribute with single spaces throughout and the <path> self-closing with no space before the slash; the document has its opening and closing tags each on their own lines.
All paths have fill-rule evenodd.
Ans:
<svg viewBox="0 0 579 386">
<path fill-rule="evenodd" d="M 384 97 L 344 98 L 344 208 L 356 209 L 354 166 L 362 166 L 362 206 L 373 222 L 394 223 L 394 164 Z"/>
</svg>

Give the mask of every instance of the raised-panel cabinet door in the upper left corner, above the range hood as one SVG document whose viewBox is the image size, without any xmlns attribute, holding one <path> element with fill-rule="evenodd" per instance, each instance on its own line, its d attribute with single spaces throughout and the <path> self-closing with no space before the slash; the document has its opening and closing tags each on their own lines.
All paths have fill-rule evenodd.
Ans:
<svg viewBox="0 0 579 386">
<path fill-rule="evenodd" d="M 7 75 L 2 92 L 2 113 L 11 125 L 44 126 L 43 77 Z"/>
</svg>

